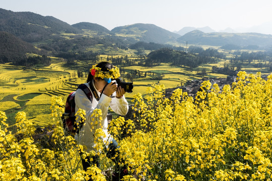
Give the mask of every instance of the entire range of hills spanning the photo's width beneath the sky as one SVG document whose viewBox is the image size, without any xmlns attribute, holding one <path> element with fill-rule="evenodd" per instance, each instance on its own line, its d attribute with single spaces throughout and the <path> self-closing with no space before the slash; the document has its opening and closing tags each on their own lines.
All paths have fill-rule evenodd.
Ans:
<svg viewBox="0 0 272 181">
<path fill-rule="evenodd" d="M 193 29 L 195 28 L 186 27 L 183 30 L 190 31 Z M 190 45 L 234 45 L 242 47 L 272 45 L 272 35 L 211 33 L 213 30 L 209 27 L 199 29 L 206 33 L 193 30 L 181 36 L 156 25 L 142 23 L 116 27 L 110 31 L 94 23 L 81 22 L 69 25 L 50 16 L 0 9 L 0 31 L 10 33 L 25 42 L 30 42 L 47 51 L 46 55 L 53 56 L 63 54 L 63 52 L 73 52 L 74 54 L 112 53 L 118 52 L 120 49 L 126 50 L 130 45 L 139 42 L 175 43 L 175 45 L 176 43 L 185 44 L 187 42 Z M 11 43 L 13 42 L 11 41 Z"/>
</svg>

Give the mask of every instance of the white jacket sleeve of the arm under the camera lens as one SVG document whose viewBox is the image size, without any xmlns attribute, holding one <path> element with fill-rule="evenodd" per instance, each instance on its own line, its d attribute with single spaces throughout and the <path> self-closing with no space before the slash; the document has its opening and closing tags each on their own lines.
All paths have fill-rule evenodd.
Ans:
<svg viewBox="0 0 272 181">
<path fill-rule="evenodd" d="M 124 95 L 120 99 L 112 98 L 110 102 L 110 108 L 119 115 L 126 115 L 126 113 L 128 112 L 128 103 Z"/>
</svg>

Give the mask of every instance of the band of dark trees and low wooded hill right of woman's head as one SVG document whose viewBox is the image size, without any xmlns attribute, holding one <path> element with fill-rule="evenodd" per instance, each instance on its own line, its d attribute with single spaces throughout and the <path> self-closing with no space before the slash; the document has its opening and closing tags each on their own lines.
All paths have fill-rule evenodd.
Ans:
<svg viewBox="0 0 272 181">
<path fill-rule="evenodd" d="M 195 68 L 204 63 L 216 63 L 219 58 L 226 58 L 225 55 L 216 49 L 203 50 L 198 47 L 191 47 L 189 52 L 174 50 L 172 48 L 161 48 L 150 52 L 148 55 L 138 55 L 137 58 L 125 56 L 108 56 L 107 61 L 112 61 L 114 65 L 121 66 L 155 66 L 160 63 L 170 63 L 174 66 L 184 66 Z"/>
</svg>

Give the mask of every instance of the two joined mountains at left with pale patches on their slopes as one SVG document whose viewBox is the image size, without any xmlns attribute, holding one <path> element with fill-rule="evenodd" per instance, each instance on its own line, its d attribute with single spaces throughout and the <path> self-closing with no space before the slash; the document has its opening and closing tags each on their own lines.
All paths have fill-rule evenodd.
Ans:
<svg viewBox="0 0 272 181">
<path fill-rule="evenodd" d="M 78 23 L 74 26 L 50 16 L 0 9 L 0 31 L 35 43 L 38 48 L 47 51 L 47 55 L 56 56 L 71 50 L 76 53 L 92 53 L 95 50 L 97 53 L 104 49 L 117 51 L 127 47 L 122 39 L 100 25 Z M 94 48 L 98 44 L 101 49 Z"/>
</svg>

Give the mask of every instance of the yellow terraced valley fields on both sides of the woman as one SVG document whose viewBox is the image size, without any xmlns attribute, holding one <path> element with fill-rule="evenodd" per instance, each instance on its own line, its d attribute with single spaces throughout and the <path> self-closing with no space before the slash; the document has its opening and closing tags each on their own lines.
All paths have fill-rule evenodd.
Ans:
<svg viewBox="0 0 272 181">
<path fill-rule="evenodd" d="M 106 58 L 105 55 L 101 57 L 102 60 Z M 75 91 L 80 83 L 86 81 L 86 78 L 78 78 L 77 70 L 70 69 L 63 61 L 55 59 L 53 62 L 50 66 L 42 69 L 24 69 L 24 67 L 10 64 L 0 65 L 0 110 L 5 111 L 8 115 L 9 124 L 15 123 L 15 114 L 18 111 L 25 111 L 27 118 L 32 120 L 35 125 L 54 124 L 48 122 L 51 120 L 49 119 L 51 96 L 61 96 L 65 102 L 67 96 Z M 78 65 L 77 68 L 80 66 Z M 147 72 L 146 77 L 133 79 L 133 93 L 125 95 L 128 102 L 133 99 L 134 94 L 145 95 L 148 86 L 161 83 L 166 88 L 173 88 L 189 79 L 201 78 L 196 76 L 196 71 L 187 71 L 185 68 L 173 67 L 168 64 L 151 68 L 130 66 L 124 67 L 124 69 L 125 72 L 135 70 Z M 163 74 L 163 78 L 161 80 L 154 79 L 153 73 Z"/>
</svg>

